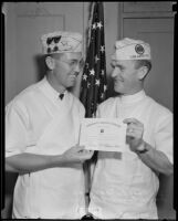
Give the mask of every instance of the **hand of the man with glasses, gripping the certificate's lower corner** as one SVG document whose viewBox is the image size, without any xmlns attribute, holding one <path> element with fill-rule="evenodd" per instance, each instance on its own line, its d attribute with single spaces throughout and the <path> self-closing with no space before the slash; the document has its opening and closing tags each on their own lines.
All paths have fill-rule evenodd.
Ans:
<svg viewBox="0 0 178 221">
<path fill-rule="evenodd" d="M 93 150 L 86 150 L 84 149 L 84 146 L 75 145 L 67 149 L 62 155 L 62 158 L 64 162 L 84 162 L 85 160 L 91 159 L 93 154 Z"/>
</svg>

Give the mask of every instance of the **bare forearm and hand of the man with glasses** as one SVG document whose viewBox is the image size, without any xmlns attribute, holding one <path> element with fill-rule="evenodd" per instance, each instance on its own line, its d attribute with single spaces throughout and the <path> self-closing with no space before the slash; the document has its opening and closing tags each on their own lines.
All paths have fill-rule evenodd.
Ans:
<svg viewBox="0 0 178 221">
<path fill-rule="evenodd" d="M 6 158 L 6 169 L 11 172 L 29 173 L 48 168 L 69 166 L 71 162 L 82 164 L 93 156 L 94 151 L 84 146 L 74 146 L 62 155 L 35 155 L 23 152 Z M 66 164 L 66 165 L 65 165 Z"/>
</svg>

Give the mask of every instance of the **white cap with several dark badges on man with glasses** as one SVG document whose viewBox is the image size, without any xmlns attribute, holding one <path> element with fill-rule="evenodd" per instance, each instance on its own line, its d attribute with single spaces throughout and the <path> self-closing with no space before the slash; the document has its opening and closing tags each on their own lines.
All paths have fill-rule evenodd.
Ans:
<svg viewBox="0 0 178 221">
<path fill-rule="evenodd" d="M 76 32 L 56 31 L 41 38 L 43 53 L 82 52 L 82 34 Z"/>
</svg>

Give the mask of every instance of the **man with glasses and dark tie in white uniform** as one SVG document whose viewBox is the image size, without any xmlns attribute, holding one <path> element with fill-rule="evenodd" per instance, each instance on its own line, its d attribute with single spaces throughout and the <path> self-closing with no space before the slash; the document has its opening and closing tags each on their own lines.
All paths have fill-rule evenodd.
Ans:
<svg viewBox="0 0 178 221">
<path fill-rule="evenodd" d="M 15 219 L 80 219 L 85 214 L 82 162 L 92 151 L 78 146 L 85 110 L 67 88 L 82 70 L 82 35 L 42 36 L 46 76 L 15 96 L 6 109 L 6 167 L 19 172 Z"/>
</svg>

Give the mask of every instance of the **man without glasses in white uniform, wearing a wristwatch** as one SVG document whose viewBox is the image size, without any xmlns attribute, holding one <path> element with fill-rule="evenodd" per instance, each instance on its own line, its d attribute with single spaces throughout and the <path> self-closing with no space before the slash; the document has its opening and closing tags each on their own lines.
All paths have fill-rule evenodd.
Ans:
<svg viewBox="0 0 178 221">
<path fill-rule="evenodd" d="M 158 218 L 158 173 L 172 173 L 172 113 L 144 91 L 150 61 L 149 44 L 116 41 L 112 77 L 119 95 L 101 104 L 97 117 L 123 119 L 127 145 L 124 152 L 98 151 L 88 208 L 95 218 Z"/>
</svg>

